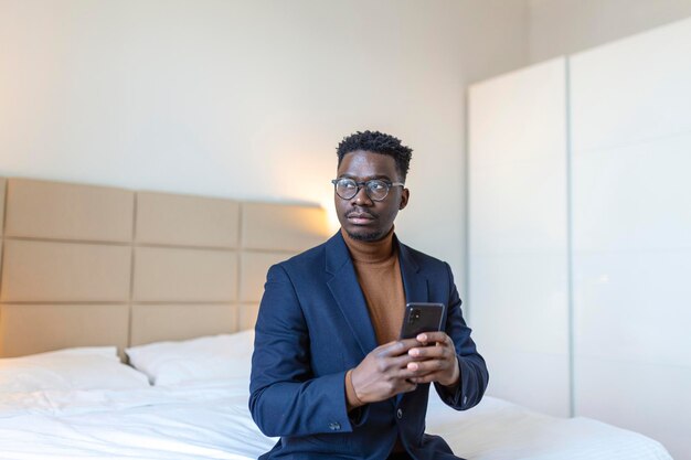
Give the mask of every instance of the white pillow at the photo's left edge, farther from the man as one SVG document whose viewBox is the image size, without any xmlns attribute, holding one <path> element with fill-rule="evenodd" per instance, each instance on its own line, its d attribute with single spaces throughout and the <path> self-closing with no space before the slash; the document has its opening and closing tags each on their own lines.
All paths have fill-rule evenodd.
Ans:
<svg viewBox="0 0 691 460">
<path fill-rule="evenodd" d="M 148 385 L 146 375 L 120 363 L 115 346 L 65 349 L 0 359 L 0 392 L 114 389 Z"/>
</svg>

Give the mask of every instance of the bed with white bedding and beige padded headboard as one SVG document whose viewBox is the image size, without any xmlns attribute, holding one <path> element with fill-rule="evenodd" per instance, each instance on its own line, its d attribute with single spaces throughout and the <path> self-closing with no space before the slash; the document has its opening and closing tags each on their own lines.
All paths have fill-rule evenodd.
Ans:
<svg viewBox="0 0 691 460">
<path fill-rule="evenodd" d="M 255 459 L 247 409 L 267 267 L 328 236 L 312 205 L 0 180 L 0 458 Z M 469 460 L 668 460 L 642 435 L 434 392 Z"/>
</svg>

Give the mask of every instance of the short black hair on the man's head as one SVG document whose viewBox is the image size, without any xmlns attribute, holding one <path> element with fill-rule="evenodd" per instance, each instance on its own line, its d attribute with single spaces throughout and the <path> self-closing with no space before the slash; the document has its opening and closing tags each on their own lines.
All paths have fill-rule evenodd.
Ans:
<svg viewBox="0 0 691 460">
<path fill-rule="evenodd" d="M 401 143 L 401 139 L 380 131 L 358 131 L 341 140 L 336 149 L 338 165 L 341 165 L 343 157 L 350 152 L 364 150 L 392 157 L 396 161 L 396 170 L 401 180 L 405 182 L 408 173 L 413 149 Z"/>
</svg>

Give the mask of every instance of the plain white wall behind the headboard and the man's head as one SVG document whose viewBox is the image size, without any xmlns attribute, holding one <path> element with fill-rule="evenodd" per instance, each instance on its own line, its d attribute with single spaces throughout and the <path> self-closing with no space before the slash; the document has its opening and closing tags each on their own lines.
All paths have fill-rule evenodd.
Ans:
<svg viewBox="0 0 691 460">
<path fill-rule="evenodd" d="M 525 20 L 524 0 L 2 0 L 0 174 L 330 208 L 338 141 L 380 129 L 415 149 L 402 238 L 463 282 L 465 85 L 524 65 Z"/>
</svg>

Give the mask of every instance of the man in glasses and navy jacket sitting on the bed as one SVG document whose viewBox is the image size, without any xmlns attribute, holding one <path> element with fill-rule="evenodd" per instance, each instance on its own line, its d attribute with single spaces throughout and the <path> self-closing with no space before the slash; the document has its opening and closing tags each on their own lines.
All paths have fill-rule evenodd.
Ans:
<svg viewBox="0 0 691 460">
<path fill-rule="evenodd" d="M 488 373 L 449 266 L 394 235 L 411 156 L 381 132 L 344 138 L 332 181 L 341 231 L 268 271 L 249 409 L 280 440 L 261 459 L 457 459 L 424 434 L 429 384 L 464 410 Z M 406 302 L 445 304 L 443 331 L 398 340 Z"/>
</svg>

